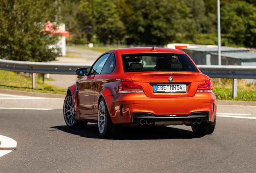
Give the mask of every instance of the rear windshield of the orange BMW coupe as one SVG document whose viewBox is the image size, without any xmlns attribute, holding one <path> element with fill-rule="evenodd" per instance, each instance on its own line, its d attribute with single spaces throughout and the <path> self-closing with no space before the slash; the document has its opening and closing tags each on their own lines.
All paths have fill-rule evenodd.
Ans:
<svg viewBox="0 0 256 173">
<path fill-rule="evenodd" d="M 122 55 L 124 72 L 192 71 L 198 72 L 186 54 L 138 53 Z"/>
</svg>

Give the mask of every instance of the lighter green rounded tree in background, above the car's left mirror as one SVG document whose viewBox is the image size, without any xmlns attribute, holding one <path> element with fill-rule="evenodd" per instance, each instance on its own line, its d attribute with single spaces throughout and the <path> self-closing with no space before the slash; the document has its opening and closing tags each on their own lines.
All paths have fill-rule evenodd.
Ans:
<svg viewBox="0 0 256 173">
<path fill-rule="evenodd" d="M 115 43 L 124 36 L 124 24 L 112 0 L 81 0 L 81 12 L 87 17 L 87 26 L 103 44 Z"/>
</svg>

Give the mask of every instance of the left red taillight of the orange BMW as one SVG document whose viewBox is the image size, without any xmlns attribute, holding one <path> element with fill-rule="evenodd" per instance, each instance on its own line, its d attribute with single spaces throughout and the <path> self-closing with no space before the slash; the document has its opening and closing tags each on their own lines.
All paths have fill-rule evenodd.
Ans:
<svg viewBox="0 0 256 173">
<path fill-rule="evenodd" d="M 120 82 L 118 84 L 120 94 L 124 93 L 144 93 L 140 85 L 135 85 L 132 82 Z"/>
</svg>

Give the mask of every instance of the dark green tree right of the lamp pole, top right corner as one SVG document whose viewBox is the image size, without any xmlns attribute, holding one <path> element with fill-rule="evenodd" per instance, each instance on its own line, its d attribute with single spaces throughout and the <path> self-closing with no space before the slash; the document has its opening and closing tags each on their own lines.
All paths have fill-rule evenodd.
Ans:
<svg viewBox="0 0 256 173">
<path fill-rule="evenodd" d="M 221 33 L 237 46 L 256 47 L 256 8 L 243 1 L 223 6 Z"/>
</svg>

